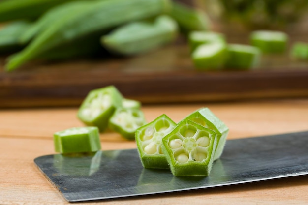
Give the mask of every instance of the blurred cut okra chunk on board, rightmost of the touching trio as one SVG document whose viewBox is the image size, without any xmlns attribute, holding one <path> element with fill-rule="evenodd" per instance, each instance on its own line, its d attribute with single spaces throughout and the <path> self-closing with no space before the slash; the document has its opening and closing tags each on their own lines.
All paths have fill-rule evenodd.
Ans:
<svg viewBox="0 0 308 205">
<path fill-rule="evenodd" d="M 261 51 L 254 46 L 229 44 L 227 51 L 226 68 L 250 69 L 260 61 Z"/>
</svg>

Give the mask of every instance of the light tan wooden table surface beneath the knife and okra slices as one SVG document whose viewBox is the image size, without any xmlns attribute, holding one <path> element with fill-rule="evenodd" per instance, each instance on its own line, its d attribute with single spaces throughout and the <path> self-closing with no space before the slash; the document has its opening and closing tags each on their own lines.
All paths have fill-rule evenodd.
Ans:
<svg viewBox="0 0 308 205">
<path fill-rule="evenodd" d="M 209 107 L 230 128 L 228 139 L 308 130 L 308 99 L 142 107 L 148 121 L 165 113 L 176 122 Z M 0 110 L 0 205 L 65 205 L 33 159 L 54 154 L 53 133 L 82 126 L 78 108 Z M 103 150 L 135 148 L 115 133 L 101 134 Z M 128 176 L 129 177 L 129 176 Z M 195 191 L 78 204 L 104 205 L 294 205 L 308 204 L 308 176 L 297 176 Z"/>
</svg>

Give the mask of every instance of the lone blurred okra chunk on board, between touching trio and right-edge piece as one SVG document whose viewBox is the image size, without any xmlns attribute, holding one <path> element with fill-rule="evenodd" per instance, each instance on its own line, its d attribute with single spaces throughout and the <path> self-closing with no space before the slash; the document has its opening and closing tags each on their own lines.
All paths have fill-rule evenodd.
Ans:
<svg viewBox="0 0 308 205">
<path fill-rule="evenodd" d="M 287 49 L 288 35 L 281 31 L 256 30 L 250 35 L 250 43 L 263 53 L 283 53 Z"/>
</svg>

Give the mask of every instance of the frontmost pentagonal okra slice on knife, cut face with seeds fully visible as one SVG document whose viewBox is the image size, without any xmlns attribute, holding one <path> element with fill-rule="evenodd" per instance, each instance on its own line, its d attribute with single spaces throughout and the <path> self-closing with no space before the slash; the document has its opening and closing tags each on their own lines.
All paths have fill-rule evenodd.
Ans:
<svg viewBox="0 0 308 205">
<path fill-rule="evenodd" d="M 174 176 L 208 176 L 216 148 L 216 133 L 188 119 L 162 139 L 162 151 Z"/>
</svg>

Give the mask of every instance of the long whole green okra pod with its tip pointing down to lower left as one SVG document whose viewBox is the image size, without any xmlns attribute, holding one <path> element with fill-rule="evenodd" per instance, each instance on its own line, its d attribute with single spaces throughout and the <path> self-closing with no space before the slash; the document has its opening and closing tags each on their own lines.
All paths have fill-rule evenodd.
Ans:
<svg viewBox="0 0 308 205">
<path fill-rule="evenodd" d="M 169 8 L 170 2 L 169 0 L 97 0 L 88 3 L 79 12 L 69 11 L 55 19 L 52 26 L 41 31 L 22 52 L 9 59 L 6 70 L 12 71 L 30 60 L 37 59 L 41 53 L 48 53 L 59 45 L 73 42 L 81 37 L 97 32 L 103 34 L 108 29 L 124 23 L 159 15 Z"/>
</svg>

